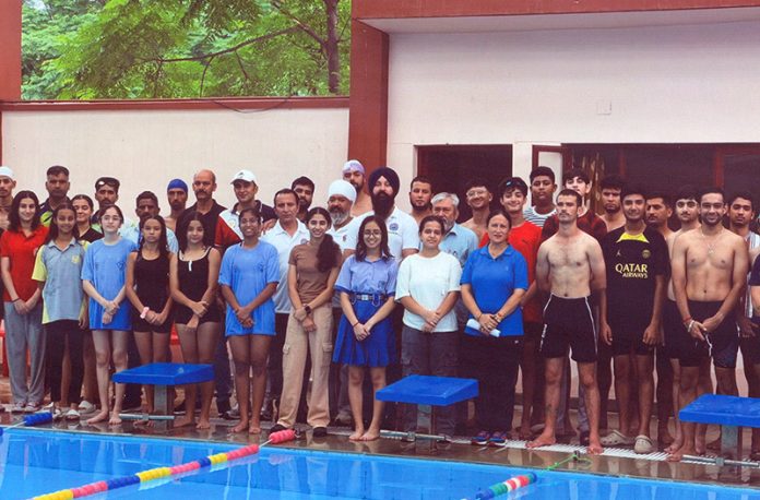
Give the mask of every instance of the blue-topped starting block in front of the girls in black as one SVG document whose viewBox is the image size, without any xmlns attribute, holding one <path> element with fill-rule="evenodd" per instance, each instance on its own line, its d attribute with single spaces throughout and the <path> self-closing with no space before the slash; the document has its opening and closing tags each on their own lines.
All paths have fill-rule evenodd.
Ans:
<svg viewBox="0 0 760 500">
<path fill-rule="evenodd" d="M 168 388 L 214 380 L 214 367 L 211 365 L 186 365 L 179 362 L 153 362 L 114 373 L 116 383 L 139 383 L 153 385 L 153 407 L 156 415 L 122 414 L 121 418 L 171 420 L 174 402 L 168 401 Z"/>
</svg>

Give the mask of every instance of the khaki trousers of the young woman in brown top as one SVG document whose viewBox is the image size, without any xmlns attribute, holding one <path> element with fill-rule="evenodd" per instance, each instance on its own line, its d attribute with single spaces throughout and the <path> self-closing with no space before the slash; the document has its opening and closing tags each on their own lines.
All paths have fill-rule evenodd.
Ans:
<svg viewBox="0 0 760 500">
<path fill-rule="evenodd" d="M 311 354 L 311 394 L 306 418 L 311 427 L 330 424 L 329 379 L 332 361 L 332 305 L 325 303 L 312 311 L 317 331 L 307 333 L 300 321 L 290 313 L 283 346 L 283 393 L 280 398 L 277 424 L 292 428 L 296 424 L 298 402 L 306 368 L 306 356 Z"/>
</svg>

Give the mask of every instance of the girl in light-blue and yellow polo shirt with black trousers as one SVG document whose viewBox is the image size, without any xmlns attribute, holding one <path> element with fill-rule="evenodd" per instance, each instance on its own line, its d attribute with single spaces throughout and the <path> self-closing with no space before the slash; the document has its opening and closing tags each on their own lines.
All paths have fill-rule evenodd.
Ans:
<svg viewBox="0 0 760 500">
<path fill-rule="evenodd" d="M 74 238 L 74 207 L 69 203 L 52 211 L 50 231 L 37 251 L 32 278 L 43 290 L 43 324 L 48 353 L 48 380 L 54 416 L 62 415 L 61 379 L 63 353 L 69 346 L 71 377 L 69 379 L 68 420 L 78 420 L 79 398 L 82 391 L 84 365 L 82 361 L 83 330 L 87 325 L 84 290 L 82 289 L 82 263 L 84 247 Z"/>
</svg>

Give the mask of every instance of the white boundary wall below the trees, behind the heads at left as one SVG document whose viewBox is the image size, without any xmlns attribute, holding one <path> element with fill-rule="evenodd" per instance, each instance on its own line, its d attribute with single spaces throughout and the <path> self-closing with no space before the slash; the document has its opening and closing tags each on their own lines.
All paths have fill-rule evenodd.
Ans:
<svg viewBox="0 0 760 500">
<path fill-rule="evenodd" d="M 167 182 L 179 177 L 190 184 L 201 168 L 216 172 L 216 198 L 227 206 L 235 200 L 229 179 L 240 168 L 257 175 L 258 198 L 268 204 L 301 175 L 317 184 L 314 203 L 324 204 L 347 145 L 347 108 L 2 112 L 2 163 L 16 172 L 16 189 L 45 199 L 51 165 L 71 170 L 72 194 L 92 197 L 95 179 L 112 176 L 121 180 L 119 205 L 130 215 L 143 190 L 154 191 L 166 213 Z"/>
</svg>

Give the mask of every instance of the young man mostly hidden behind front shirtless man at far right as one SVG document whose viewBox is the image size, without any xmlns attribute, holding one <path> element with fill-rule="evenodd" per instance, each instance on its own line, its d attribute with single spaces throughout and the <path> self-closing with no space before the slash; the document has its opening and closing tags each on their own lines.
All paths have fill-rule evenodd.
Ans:
<svg viewBox="0 0 760 500">
<path fill-rule="evenodd" d="M 667 243 L 668 253 L 673 258 L 673 245 L 680 235 L 684 233 L 698 229 L 700 227 L 699 223 L 699 202 L 697 201 L 697 189 L 693 186 L 684 186 L 675 197 L 675 211 L 676 217 L 680 222 L 680 229 L 677 231 L 672 231 L 665 237 L 665 242 Z M 684 436 L 681 434 L 680 420 L 678 419 L 678 392 L 680 391 L 680 362 L 678 362 L 678 341 L 685 338 L 686 331 L 680 321 L 680 314 L 678 313 L 678 307 L 676 306 L 676 296 L 673 294 L 673 281 L 668 282 L 667 285 L 667 300 L 665 300 L 665 308 L 663 310 L 663 342 L 665 347 L 665 354 L 670 359 L 670 369 L 673 371 L 673 413 L 674 419 L 676 421 L 676 437 L 675 441 L 670 443 L 669 447 L 665 449 L 665 452 L 670 453 L 672 451 L 678 450 L 684 443 Z M 708 367 L 709 371 L 709 367 Z M 706 381 L 706 388 L 703 384 Z M 700 392 L 712 392 L 712 380 L 709 378 L 700 379 Z M 704 426 L 700 426 L 704 428 Z M 698 432 L 698 436 L 700 433 Z M 697 451 L 704 451 L 704 433 L 701 433 L 701 448 L 698 445 Z"/>
</svg>

